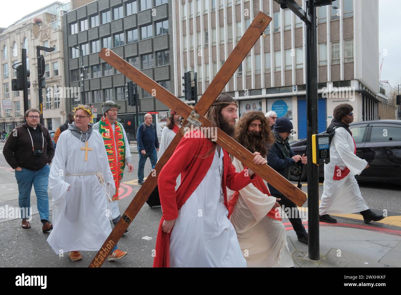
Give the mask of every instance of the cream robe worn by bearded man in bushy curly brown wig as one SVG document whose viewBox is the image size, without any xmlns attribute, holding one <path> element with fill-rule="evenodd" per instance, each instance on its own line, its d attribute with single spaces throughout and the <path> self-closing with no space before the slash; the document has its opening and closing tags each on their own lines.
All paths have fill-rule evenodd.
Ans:
<svg viewBox="0 0 401 295">
<path fill-rule="evenodd" d="M 242 163 L 234 159 L 236 172 Z M 227 198 L 234 191 L 227 188 Z M 266 214 L 273 208 L 276 198 L 259 191 L 252 183 L 239 191 L 230 221 L 233 224 L 248 267 L 293 267 L 294 262 L 287 244 L 286 229 L 281 221 Z"/>
</svg>

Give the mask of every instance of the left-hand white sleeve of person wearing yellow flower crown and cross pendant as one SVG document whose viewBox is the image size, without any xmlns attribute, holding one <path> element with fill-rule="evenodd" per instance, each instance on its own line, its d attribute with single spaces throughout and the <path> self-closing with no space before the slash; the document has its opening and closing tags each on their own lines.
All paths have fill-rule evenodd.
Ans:
<svg viewBox="0 0 401 295">
<path fill-rule="evenodd" d="M 67 163 L 68 159 L 67 137 L 67 131 L 60 134 L 60 137 L 57 140 L 57 149 L 50 167 L 49 189 L 53 202 L 64 197 L 70 186 L 69 183 L 64 181 L 66 173 L 65 163 Z"/>
</svg>

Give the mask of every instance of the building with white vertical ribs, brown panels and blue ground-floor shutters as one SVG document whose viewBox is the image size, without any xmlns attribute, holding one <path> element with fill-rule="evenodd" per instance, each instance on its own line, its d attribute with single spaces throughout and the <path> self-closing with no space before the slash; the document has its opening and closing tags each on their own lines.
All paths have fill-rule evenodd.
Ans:
<svg viewBox="0 0 401 295">
<path fill-rule="evenodd" d="M 305 1 L 296 0 L 305 10 Z M 272 18 L 225 91 L 239 100 L 239 115 L 275 110 L 306 138 L 305 24 L 274 0 L 175 0 L 173 93 L 181 76 L 198 73 L 198 97 L 221 68 L 260 11 Z M 332 110 L 347 102 L 355 121 L 377 118 L 379 77 L 377 0 L 335 0 L 316 8 L 318 35 L 318 125 L 326 130 Z"/>
</svg>

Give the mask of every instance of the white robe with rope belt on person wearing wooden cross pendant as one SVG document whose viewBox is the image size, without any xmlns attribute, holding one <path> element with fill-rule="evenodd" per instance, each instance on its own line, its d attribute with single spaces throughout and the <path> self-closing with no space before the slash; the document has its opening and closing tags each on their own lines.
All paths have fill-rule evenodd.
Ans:
<svg viewBox="0 0 401 295">
<path fill-rule="evenodd" d="M 88 140 L 87 161 L 85 147 L 70 130 L 60 134 L 49 175 L 49 189 L 53 198 L 53 230 L 47 242 L 56 252 L 97 251 L 111 232 L 108 197 L 96 175 L 67 176 L 67 174 L 102 173 L 110 197 L 115 185 L 107 153 L 99 132 L 92 132 Z M 107 185 L 108 184 L 108 185 Z M 67 191 L 69 185 L 71 188 Z"/>
</svg>

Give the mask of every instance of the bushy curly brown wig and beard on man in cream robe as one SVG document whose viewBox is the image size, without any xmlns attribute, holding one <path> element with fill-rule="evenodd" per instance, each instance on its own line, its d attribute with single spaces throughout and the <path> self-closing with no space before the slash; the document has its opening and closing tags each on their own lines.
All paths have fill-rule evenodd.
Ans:
<svg viewBox="0 0 401 295">
<path fill-rule="evenodd" d="M 259 135 L 248 131 L 253 120 L 260 120 L 262 124 Z M 269 127 L 269 121 L 259 111 L 247 112 L 239 119 L 237 126 L 235 126 L 234 139 L 251 153 L 258 152 L 262 157 L 266 157 L 267 151 L 274 144 L 274 136 Z"/>
</svg>

